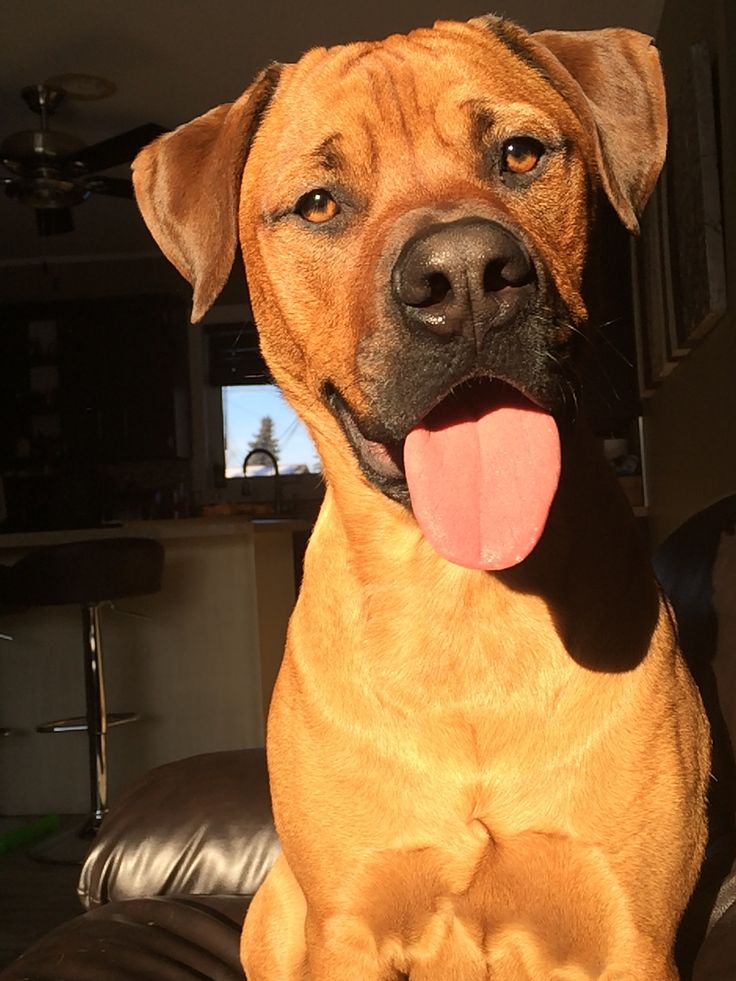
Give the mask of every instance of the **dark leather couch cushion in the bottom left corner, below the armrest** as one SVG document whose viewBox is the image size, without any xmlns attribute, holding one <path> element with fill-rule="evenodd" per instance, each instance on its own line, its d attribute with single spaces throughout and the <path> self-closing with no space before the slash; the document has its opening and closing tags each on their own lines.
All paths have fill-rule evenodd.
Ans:
<svg viewBox="0 0 736 981">
<path fill-rule="evenodd" d="M 174 896 L 78 916 L 0 971 L 0 981 L 243 981 L 243 898 Z"/>
</svg>

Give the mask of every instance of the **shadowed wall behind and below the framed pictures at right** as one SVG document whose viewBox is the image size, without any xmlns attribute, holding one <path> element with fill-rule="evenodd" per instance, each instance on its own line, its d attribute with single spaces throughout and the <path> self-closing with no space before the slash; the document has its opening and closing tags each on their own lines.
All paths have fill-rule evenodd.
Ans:
<svg viewBox="0 0 736 981">
<path fill-rule="evenodd" d="M 657 43 L 668 88 L 677 89 L 694 42 L 709 42 L 716 55 L 730 299 L 726 316 L 645 402 L 654 544 L 693 512 L 736 491 L 736 65 L 729 39 L 736 41 L 733 0 L 667 0 Z"/>
</svg>

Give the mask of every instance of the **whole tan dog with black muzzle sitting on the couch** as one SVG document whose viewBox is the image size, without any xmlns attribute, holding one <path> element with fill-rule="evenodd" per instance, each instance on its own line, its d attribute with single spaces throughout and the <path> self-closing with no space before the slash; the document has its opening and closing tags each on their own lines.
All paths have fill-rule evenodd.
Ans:
<svg viewBox="0 0 736 981">
<path fill-rule="evenodd" d="M 657 178 L 657 54 L 492 17 L 310 51 L 147 148 L 216 298 L 239 236 L 327 494 L 268 725 L 250 981 L 664 981 L 708 733 L 571 379 L 601 187 Z"/>
</svg>

